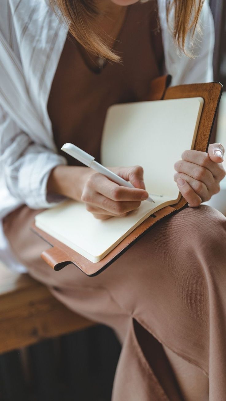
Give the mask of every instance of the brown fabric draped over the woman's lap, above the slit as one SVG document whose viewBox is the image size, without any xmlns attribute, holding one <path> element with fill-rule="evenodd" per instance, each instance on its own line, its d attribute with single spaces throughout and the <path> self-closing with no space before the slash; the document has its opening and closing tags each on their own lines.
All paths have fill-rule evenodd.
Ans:
<svg viewBox="0 0 226 401">
<path fill-rule="evenodd" d="M 74 303 L 80 313 L 113 327 L 133 317 L 208 375 L 216 379 L 223 366 L 226 373 L 226 218 L 221 213 L 204 205 L 180 211 L 96 277 L 74 265 L 53 271 L 39 257 L 47 245 L 29 231 L 37 211 L 23 207 L 13 213 L 4 230 L 16 256 L 62 302 L 66 296 L 69 307 Z"/>
</svg>

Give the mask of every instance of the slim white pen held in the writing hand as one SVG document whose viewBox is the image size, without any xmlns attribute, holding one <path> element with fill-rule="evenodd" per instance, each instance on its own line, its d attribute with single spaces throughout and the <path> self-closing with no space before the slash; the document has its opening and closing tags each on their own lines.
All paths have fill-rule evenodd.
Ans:
<svg viewBox="0 0 226 401">
<path fill-rule="evenodd" d="M 88 167 L 93 168 L 95 171 L 103 174 L 104 176 L 110 178 L 110 180 L 116 182 L 116 184 L 126 186 L 128 188 L 135 188 L 131 182 L 124 180 L 117 174 L 113 173 L 112 171 L 108 170 L 108 168 L 102 166 L 102 164 L 95 162 L 95 157 L 91 156 L 90 154 L 86 153 L 84 150 L 78 148 L 73 144 L 64 144 L 61 148 L 63 152 L 69 154 L 70 156 L 74 157 L 75 159 L 79 160 L 79 162 L 85 164 Z M 148 202 L 154 202 L 151 196 L 145 199 Z M 155 202 L 154 202 L 155 203 Z"/>
</svg>

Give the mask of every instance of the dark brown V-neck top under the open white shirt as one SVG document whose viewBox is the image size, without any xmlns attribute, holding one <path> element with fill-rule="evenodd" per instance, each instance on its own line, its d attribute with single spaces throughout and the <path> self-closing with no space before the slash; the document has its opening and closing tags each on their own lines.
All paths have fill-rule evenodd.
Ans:
<svg viewBox="0 0 226 401">
<path fill-rule="evenodd" d="M 108 107 L 142 101 L 152 79 L 161 75 L 163 46 L 155 1 L 128 6 L 115 50 L 122 63 L 94 72 L 69 36 L 53 79 L 48 112 L 57 148 L 71 142 L 100 161 L 100 142 Z M 71 156 L 69 164 L 81 165 Z"/>
</svg>

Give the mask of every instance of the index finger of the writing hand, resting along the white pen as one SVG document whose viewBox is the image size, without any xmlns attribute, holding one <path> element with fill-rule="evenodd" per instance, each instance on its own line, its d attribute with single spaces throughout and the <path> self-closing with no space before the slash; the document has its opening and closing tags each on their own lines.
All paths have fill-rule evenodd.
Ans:
<svg viewBox="0 0 226 401">
<path fill-rule="evenodd" d="M 112 199 L 112 201 L 144 201 L 149 196 L 144 189 L 127 188 L 116 184 L 102 174 L 95 175 L 94 185 L 96 192 Z"/>
</svg>

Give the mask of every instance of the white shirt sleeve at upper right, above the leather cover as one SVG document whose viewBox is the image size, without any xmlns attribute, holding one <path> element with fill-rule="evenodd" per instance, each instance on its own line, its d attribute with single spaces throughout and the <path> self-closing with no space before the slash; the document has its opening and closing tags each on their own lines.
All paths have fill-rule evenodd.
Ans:
<svg viewBox="0 0 226 401">
<path fill-rule="evenodd" d="M 213 81 L 214 21 L 207 1 L 201 11 L 193 41 L 187 37 L 186 47 L 193 58 L 179 54 L 167 25 L 165 1 L 159 0 L 159 18 L 165 54 L 165 72 L 172 75 L 172 86 Z M 173 21 L 171 13 L 169 22 Z"/>
</svg>

